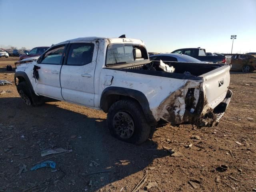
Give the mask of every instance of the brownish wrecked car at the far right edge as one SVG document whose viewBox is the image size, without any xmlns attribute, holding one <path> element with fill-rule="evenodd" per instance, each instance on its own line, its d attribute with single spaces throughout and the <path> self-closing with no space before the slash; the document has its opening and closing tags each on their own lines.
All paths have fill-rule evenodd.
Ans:
<svg viewBox="0 0 256 192">
<path fill-rule="evenodd" d="M 256 70 L 256 55 L 234 54 L 231 57 L 231 64 L 231 71 L 253 72 Z"/>
</svg>

